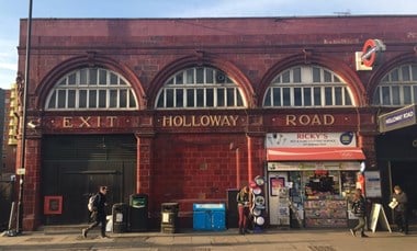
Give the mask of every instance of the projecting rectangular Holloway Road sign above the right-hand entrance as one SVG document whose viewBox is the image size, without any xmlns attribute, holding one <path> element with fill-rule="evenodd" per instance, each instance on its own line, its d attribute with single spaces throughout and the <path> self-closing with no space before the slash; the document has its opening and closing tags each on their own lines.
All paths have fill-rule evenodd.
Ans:
<svg viewBox="0 0 417 251">
<path fill-rule="evenodd" d="M 380 133 L 404 128 L 416 124 L 416 104 L 408 105 L 377 117 Z"/>
</svg>

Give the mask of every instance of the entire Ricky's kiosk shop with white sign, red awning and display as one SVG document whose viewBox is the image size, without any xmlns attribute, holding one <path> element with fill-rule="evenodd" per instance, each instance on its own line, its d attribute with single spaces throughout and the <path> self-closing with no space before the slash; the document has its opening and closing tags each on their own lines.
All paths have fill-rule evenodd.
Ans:
<svg viewBox="0 0 417 251">
<path fill-rule="evenodd" d="M 266 139 L 270 225 L 347 227 L 364 158 L 354 134 L 275 135 Z"/>
</svg>

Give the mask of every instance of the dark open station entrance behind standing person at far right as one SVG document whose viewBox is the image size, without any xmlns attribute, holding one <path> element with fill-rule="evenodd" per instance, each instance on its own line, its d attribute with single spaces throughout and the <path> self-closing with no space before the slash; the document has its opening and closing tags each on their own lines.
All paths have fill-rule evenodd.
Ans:
<svg viewBox="0 0 417 251">
<path fill-rule="evenodd" d="M 417 224 L 417 162 L 391 161 L 391 178 L 392 186 L 399 185 L 407 194 L 409 223 Z"/>
</svg>

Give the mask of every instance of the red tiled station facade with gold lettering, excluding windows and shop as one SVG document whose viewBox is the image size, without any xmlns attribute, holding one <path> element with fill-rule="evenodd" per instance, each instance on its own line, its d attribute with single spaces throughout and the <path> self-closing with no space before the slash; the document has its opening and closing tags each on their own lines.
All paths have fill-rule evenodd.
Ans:
<svg viewBox="0 0 417 251">
<path fill-rule="evenodd" d="M 151 217 L 167 201 L 178 202 L 180 216 L 190 217 L 192 203 L 225 202 L 227 189 L 262 175 L 264 135 L 270 132 L 354 132 L 367 163 L 374 167 L 379 111 L 371 106 L 372 93 L 394 66 L 417 61 L 416 22 L 417 16 L 34 19 L 27 118 L 40 119 L 42 126 L 26 134 L 23 228 L 45 224 L 41 191 L 45 135 L 135 135 L 135 186 L 137 193 L 149 194 Z M 21 72 L 26 25 L 22 20 Z M 354 53 L 369 38 L 386 44 L 383 62 L 372 71 L 357 71 Z M 274 76 L 311 64 L 340 76 L 351 88 L 357 106 L 262 109 Z M 155 109 L 157 93 L 169 77 L 202 65 L 233 78 L 247 107 Z M 47 94 L 59 78 L 94 66 L 122 75 L 132 84 L 139 109 L 45 111 Z M 215 117 L 226 121 L 216 124 Z"/>
</svg>

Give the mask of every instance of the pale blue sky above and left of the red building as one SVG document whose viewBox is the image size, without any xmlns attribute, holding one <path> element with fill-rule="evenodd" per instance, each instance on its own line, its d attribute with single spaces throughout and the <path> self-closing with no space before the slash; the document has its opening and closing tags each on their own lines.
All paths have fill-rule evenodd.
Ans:
<svg viewBox="0 0 417 251">
<path fill-rule="evenodd" d="M 225 18 L 417 14 L 416 0 L 33 0 L 35 18 Z M 0 0 L 0 88 L 18 69 L 20 19 L 29 0 Z M 417 25 L 416 25 L 417 28 Z"/>
</svg>

